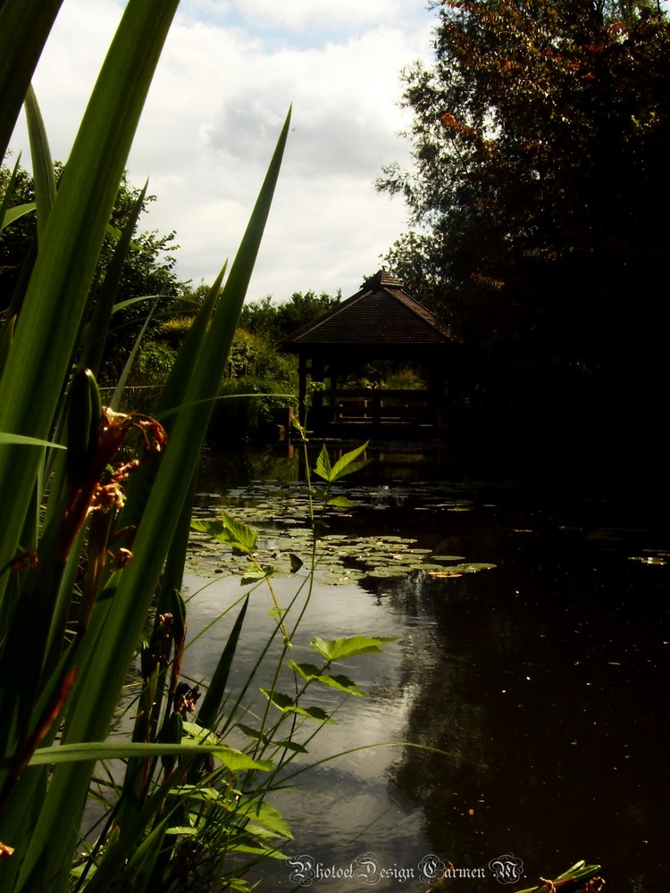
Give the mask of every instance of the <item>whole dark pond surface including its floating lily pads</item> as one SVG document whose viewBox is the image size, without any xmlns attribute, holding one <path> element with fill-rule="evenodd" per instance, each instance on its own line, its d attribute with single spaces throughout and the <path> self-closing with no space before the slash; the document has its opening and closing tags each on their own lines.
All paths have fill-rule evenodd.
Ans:
<svg viewBox="0 0 670 893">
<path fill-rule="evenodd" d="M 313 636 L 397 641 L 339 668 L 370 697 L 339 706 L 338 725 L 301 758 L 324 762 L 273 801 L 295 835 L 284 848 L 294 861 L 251 876 L 264 889 L 425 890 L 431 857 L 454 866 L 448 887 L 495 890 L 510 880 L 491 867 L 502 857 L 521 889 L 585 859 L 603 866 L 609 889 L 661 889 L 666 506 L 616 488 L 456 480 L 439 451 L 370 455 L 339 487 L 356 507 L 328 514 L 292 657 L 314 661 Z M 303 472 L 286 448 L 213 458 L 197 514 L 250 523 L 281 564 L 306 527 Z M 230 630 L 230 615 L 214 620 L 248 588 L 229 573 L 235 561 L 194 538 L 185 588 L 190 635 L 202 635 L 184 669 L 205 683 Z M 274 585 L 285 605 L 297 579 Z M 251 598 L 231 689 L 276 623 L 271 608 L 266 592 Z M 340 703 L 322 690 L 324 708 Z M 329 759 L 369 745 L 381 747 Z"/>
</svg>

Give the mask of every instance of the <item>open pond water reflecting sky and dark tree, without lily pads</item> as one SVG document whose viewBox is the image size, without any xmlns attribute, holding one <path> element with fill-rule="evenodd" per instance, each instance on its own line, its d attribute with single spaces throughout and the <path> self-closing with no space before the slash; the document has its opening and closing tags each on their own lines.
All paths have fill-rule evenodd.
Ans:
<svg viewBox="0 0 670 893">
<path fill-rule="evenodd" d="M 616 498 L 442 487 L 436 478 L 423 487 L 418 477 L 407 489 L 375 473 L 369 507 L 331 520 L 332 530 L 410 535 L 435 554 L 497 566 L 316 588 L 301 641 L 358 632 L 401 641 L 348 668 L 373 697 L 349 700 L 310 758 L 394 739 L 451 757 L 383 748 L 306 772 L 281 798 L 295 852 L 344 865 L 372 851 L 387 867 L 435 853 L 464 868 L 513 852 L 529 885 L 585 858 L 603 864 L 614 887 L 659 887 L 668 836 L 665 519 Z M 469 500 L 467 511 L 453 511 L 455 495 Z M 191 603 L 191 630 L 236 597 L 238 582 L 206 589 Z M 243 661 L 269 628 L 267 605 L 254 610 Z M 193 675 L 211 672 L 216 636 L 192 649 Z M 264 868 L 270 889 L 291 889 L 288 873 Z M 490 875 L 452 882 L 498 889 Z M 320 889 L 356 885 L 327 879 Z"/>
</svg>

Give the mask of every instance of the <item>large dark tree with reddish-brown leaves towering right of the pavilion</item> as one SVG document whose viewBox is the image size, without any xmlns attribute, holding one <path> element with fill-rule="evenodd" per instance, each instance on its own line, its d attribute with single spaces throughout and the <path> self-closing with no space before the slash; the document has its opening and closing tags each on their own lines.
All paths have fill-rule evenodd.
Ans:
<svg viewBox="0 0 670 893">
<path fill-rule="evenodd" d="M 656 390 L 670 273 L 670 24 L 654 3 L 443 0 L 405 72 L 398 277 L 501 370 Z M 510 388 L 509 380 L 505 387 Z M 514 382 L 518 393 L 518 381 Z M 499 396 L 499 395 L 498 395 Z"/>
</svg>

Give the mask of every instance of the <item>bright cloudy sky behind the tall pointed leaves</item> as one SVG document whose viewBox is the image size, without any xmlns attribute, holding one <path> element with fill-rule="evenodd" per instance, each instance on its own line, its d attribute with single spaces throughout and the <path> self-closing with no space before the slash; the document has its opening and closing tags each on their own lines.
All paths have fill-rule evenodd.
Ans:
<svg viewBox="0 0 670 893">
<path fill-rule="evenodd" d="M 35 78 L 54 157 L 66 160 L 121 0 L 67 0 Z M 281 124 L 292 129 L 250 298 L 353 294 L 402 232 L 373 189 L 406 159 L 400 71 L 431 58 L 425 0 L 182 0 L 128 164 L 157 196 L 142 229 L 176 230 L 181 279 L 232 258 Z M 13 149 L 28 158 L 23 125 Z"/>
</svg>

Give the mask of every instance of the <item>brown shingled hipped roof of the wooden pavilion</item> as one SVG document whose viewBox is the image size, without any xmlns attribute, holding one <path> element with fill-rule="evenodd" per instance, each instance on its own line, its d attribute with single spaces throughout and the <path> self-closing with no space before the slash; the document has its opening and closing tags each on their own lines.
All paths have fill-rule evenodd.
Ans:
<svg viewBox="0 0 670 893">
<path fill-rule="evenodd" d="M 380 271 L 360 291 L 283 342 L 287 350 L 308 346 L 437 346 L 454 338 L 437 317 L 408 295 L 402 282 Z"/>
</svg>

